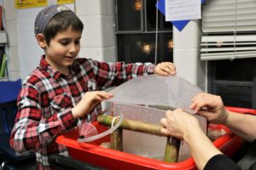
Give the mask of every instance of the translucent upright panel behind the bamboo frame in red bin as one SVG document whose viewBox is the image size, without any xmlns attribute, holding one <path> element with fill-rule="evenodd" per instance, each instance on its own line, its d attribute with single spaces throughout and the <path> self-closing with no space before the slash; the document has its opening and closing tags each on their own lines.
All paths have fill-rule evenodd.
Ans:
<svg viewBox="0 0 256 170">
<path fill-rule="evenodd" d="M 112 103 L 113 116 L 122 114 L 124 119 L 147 122 L 160 125 L 160 119 L 166 116 L 166 111 L 149 108 L 143 105 L 127 105 Z M 195 117 L 201 123 L 201 127 L 206 133 L 207 121 L 204 117 Z M 166 137 L 160 137 L 148 133 L 139 133 L 129 130 L 123 131 L 123 151 L 137 156 L 163 161 L 166 148 Z M 181 143 L 178 161 L 187 159 L 190 154 L 189 147 L 186 143 Z"/>
</svg>

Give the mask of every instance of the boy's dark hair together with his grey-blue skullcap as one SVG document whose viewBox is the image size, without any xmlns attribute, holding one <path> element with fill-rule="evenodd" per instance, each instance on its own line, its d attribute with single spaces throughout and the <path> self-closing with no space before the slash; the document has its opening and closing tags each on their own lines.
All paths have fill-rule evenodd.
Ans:
<svg viewBox="0 0 256 170">
<path fill-rule="evenodd" d="M 71 26 L 73 31 L 83 31 L 84 25 L 72 10 L 61 5 L 51 5 L 42 9 L 35 20 L 35 35 L 42 33 L 49 45 L 50 39 Z"/>
</svg>

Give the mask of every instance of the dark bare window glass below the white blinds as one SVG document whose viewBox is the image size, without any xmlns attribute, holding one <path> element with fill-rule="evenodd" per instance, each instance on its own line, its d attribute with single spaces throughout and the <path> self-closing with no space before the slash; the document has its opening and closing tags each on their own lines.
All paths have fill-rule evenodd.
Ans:
<svg viewBox="0 0 256 170">
<path fill-rule="evenodd" d="M 256 108 L 256 59 L 224 59 L 209 62 L 208 91 L 220 95 L 224 105 Z"/>
</svg>

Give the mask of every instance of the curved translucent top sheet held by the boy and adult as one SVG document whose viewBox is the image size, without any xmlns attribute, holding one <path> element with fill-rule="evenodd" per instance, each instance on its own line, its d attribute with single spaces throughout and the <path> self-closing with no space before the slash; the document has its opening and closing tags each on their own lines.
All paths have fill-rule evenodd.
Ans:
<svg viewBox="0 0 256 170">
<path fill-rule="evenodd" d="M 201 89 L 177 76 L 148 75 L 133 78 L 109 91 L 113 98 L 108 101 L 134 105 L 152 105 L 155 108 L 181 108 L 189 113 L 191 99 Z"/>
</svg>

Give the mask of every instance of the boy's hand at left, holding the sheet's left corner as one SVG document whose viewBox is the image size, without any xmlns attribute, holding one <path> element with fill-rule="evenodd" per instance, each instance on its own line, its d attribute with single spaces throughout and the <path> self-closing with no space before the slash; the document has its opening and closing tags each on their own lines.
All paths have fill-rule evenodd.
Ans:
<svg viewBox="0 0 256 170">
<path fill-rule="evenodd" d="M 90 111 L 92 111 L 96 105 L 99 105 L 104 99 L 112 98 L 112 94 L 108 94 L 104 91 L 86 92 L 78 105 L 75 105 L 72 109 L 72 114 L 75 119 L 84 117 Z"/>
</svg>

